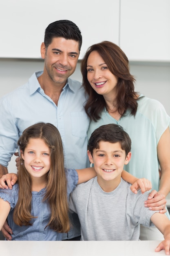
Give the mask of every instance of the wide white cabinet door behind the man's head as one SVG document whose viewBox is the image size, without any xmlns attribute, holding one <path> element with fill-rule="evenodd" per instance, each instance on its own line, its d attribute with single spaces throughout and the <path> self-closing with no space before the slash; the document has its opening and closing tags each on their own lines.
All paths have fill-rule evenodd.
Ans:
<svg viewBox="0 0 170 256">
<path fill-rule="evenodd" d="M 4 0 L 0 3 L 0 57 L 41 58 L 46 27 L 71 20 L 82 32 L 79 58 L 94 43 L 118 43 L 120 0 Z M 2 40 L 3 39 L 3 40 Z"/>
</svg>

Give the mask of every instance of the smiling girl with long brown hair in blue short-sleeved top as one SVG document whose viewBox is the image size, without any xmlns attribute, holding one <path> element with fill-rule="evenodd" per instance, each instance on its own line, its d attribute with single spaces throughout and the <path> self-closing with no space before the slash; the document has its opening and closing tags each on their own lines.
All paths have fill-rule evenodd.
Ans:
<svg viewBox="0 0 170 256">
<path fill-rule="evenodd" d="M 18 145 L 18 184 L 0 190 L 0 229 L 9 214 L 13 240 L 62 240 L 70 229 L 69 194 L 96 173 L 93 168 L 64 171 L 62 140 L 52 124 L 30 126 Z"/>
</svg>

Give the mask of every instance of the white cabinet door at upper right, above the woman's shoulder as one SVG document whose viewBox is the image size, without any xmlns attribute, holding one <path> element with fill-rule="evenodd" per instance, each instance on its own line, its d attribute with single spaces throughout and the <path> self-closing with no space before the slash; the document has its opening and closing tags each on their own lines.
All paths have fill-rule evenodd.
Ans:
<svg viewBox="0 0 170 256">
<path fill-rule="evenodd" d="M 132 61 L 170 61 L 170 0 L 121 0 L 120 47 Z"/>
</svg>

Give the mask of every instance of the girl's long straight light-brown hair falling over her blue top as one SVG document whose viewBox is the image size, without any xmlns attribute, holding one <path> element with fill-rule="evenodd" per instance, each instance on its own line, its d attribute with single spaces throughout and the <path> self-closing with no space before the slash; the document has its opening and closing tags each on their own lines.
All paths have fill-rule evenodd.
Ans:
<svg viewBox="0 0 170 256">
<path fill-rule="evenodd" d="M 68 217 L 67 181 L 64 171 L 64 154 L 62 139 L 59 131 L 52 124 L 37 123 L 25 129 L 18 145 L 24 153 L 30 138 L 43 139 L 51 150 L 51 167 L 47 173 L 46 190 L 43 202 L 47 201 L 51 209 L 51 216 L 47 226 L 51 229 L 65 233 L 70 229 Z M 21 158 L 18 170 L 19 195 L 14 209 L 13 221 L 19 225 L 32 225 L 31 220 L 36 216 L 31 215 L 31 176 L 24 166 Z"/>
</svg>

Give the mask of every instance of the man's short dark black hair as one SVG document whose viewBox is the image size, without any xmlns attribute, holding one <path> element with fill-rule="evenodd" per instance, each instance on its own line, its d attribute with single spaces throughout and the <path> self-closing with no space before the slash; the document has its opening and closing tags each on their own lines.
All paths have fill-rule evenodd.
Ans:
<svg viewBox="0 0 170 256">
<path fill-rule="evenodd" d="M 45 30 L 44 44 L 47 48 L 54 37 L 64 37 L 79 43 L 79 51 L 82 46 L 82 34 L 77 25 L 70 20 L 57 20 L 48 25 Z"/>
</svg>

